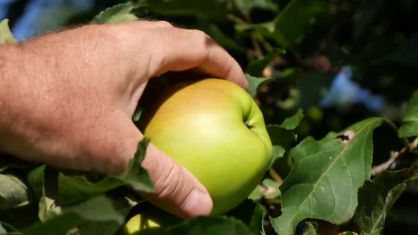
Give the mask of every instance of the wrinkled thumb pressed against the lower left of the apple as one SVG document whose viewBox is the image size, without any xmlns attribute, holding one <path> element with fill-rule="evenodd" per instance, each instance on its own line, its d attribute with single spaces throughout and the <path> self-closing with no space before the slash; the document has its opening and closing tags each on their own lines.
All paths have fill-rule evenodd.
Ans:
<svg viewBox="0 0 418 235">
<path fill-rule="evenodd" d="M 210 214 L 213 203 L 208 190 L 186 168 L 152 144 L 148 145 L 142 166 L 155 186 L 153 193 L 140 193 L 142 197 L 184 219 Z"/>
</svg>

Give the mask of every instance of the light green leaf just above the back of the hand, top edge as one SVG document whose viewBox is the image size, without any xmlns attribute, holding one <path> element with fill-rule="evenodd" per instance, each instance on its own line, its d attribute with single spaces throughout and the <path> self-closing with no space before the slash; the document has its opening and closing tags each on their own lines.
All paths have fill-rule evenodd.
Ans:
<svg viewBox="0 0 418 235">
<path fill-rule="evenodd" d="M 113 5 L 111 8 L 100 12 L 91 20 L 91 23 L 123 23 L 138 21 L 138 16 L 146 12 L 146 5 L 140 5 L 131 1 Z"/>
</svg>

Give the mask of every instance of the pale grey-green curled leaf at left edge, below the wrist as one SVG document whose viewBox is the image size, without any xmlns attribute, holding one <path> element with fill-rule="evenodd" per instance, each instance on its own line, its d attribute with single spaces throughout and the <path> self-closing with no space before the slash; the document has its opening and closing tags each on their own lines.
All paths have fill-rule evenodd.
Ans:
<svg viewBox="0 0 418 235">
<path fill-rule="evenodd" d="M 0 174 L 0 210 L 30 203 L 30 190 L 14 175 Z"/>
</svg>

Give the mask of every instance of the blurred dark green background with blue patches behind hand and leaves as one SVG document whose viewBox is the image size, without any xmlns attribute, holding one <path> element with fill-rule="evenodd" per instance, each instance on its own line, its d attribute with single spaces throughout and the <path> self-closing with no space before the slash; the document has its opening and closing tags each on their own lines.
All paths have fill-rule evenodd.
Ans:
<svg viewBox="0 0 418 235">
<path fill-rule="evenodd" d="M 0 18 L 14 36 L 33 36 L 81 25 L 101 10 L 126 1 L 0 0 Z M 259 90 L 267 124 L 303 109 L 298 139 L 316 139 L 371 116 L 398 124 L 418 89 L 418 1 L 415 0 L 155 0 L 146 19 L 205 31 L 252 76 L 273 77 Z M 375 131 L 374 164 L 401 143 L 391 128 Z M 395 168 L 410 166 L 405 156 Z M 285 161 L 285 160 L 283 160 Z M 285 163 L 283 163 L 285 164 Z M 279 170 L 282 177 L 288 173 Z M 386 234 L 418 228 L 410 188 L 388 217 Z"/>
</svg>

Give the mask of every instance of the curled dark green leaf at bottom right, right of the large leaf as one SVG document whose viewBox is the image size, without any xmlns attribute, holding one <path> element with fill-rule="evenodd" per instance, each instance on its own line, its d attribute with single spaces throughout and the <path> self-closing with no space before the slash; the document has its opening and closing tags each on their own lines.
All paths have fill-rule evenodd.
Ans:
<svg viewBox="0 0 418 235">
<path fill-rule="evenodd" d="M 353 221 L 362 234 L 380 234 L 393 203 L 418 179 L 417 164 L 395 172 L 382 172 L 373 181 L 366 181 L 358 193 L 359 203 Z"/>
</svg>

